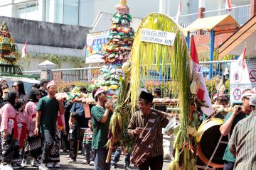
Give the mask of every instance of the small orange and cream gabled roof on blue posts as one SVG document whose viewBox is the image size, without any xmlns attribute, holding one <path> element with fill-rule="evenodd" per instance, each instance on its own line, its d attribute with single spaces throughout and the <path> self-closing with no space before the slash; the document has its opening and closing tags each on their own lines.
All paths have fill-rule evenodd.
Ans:
<svg viewBox="0 0 256 170">
<path fill-rule="evenodd" d="M 191 30 L 215 30 L 215 35 L 221 33 L 230 33 L 238 30 L 239 24 L 235 19 L 228 15 L 224 16 L 212 16 L 207 18 L 198 18 L 184 29 L 185 32 Z"/>
</svg>

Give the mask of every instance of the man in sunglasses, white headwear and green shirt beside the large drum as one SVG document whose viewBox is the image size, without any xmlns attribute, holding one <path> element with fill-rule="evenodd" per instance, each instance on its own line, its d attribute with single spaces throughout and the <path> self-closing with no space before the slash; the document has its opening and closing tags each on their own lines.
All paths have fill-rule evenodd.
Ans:
<svg viewBox="0 0 256 170">
<path fill-rule="evenodd" d="M 238 107 L 235 106 L 233 108 L 233 112 L 228 113 L 228 115 L 226 115 L 223 125 L 220 126 L 221 135 L 231 136 L 233 134 L 233 129 L 235 128 L 235 125 L 237 125 L 237 123 L 240 120 L 246 118 L 247 115 L 251 113 L 252 109 L 250 107 L 249 100 L 252 94 L 255 94 L 255 91 L 253 91 L 252 89 L 246 89 L 245 91 L 242 91 L 242 110 L 238 111 Z M 228 146 L 225 149 L 223 160 L 224 160 L 224 168 L 223 168 L 224 170 L 229 170 L 234 168 L 235 157 L 233 154 L 231 154 Z"/>
</svg>

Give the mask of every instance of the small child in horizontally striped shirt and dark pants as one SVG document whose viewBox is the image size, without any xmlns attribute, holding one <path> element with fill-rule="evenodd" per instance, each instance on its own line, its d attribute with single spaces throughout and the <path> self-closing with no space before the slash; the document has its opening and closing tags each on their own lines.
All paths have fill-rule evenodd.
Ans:
<svg viewBox="0 0 256 170">
<path fill-rule="evenodd" d="M 92 120 L 88 120 L 88 127 L 85 130 L 85 134 L 82 140 L 82 147 L 85 149 L 85 160 L 83 160 L 82 164 L 90 164 L 93 165 L 94 161 L 90 161 L 91 156 L 93 157 L 93 152 L 92 152 L 92 135 L 93 135 L 93 130 L 92 130 Z M 92 153 L 92 155 L 91 155 Z"/>
</svg>

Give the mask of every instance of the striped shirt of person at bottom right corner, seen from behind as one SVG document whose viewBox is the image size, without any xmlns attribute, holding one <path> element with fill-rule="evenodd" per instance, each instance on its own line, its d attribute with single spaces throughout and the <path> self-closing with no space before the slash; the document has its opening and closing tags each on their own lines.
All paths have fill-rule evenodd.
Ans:
<svg viewBox="0 0 256 170">
<path fill-rule="evenodd" d="M 256 169 L 256 113 L 235 126 L 228 145 L 236 155 L 234 169 Z"/>
</svg>

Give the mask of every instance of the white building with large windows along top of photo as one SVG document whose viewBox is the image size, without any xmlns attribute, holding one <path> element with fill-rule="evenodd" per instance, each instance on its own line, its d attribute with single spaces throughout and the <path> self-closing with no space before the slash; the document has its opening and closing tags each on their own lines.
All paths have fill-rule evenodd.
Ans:
<svg viewBox="0 0 256 170">
<path fill-rule="evenodd" d="M 199 1 L 206 11 L 226 8 L 226 0 Z M 181 15 L 198 13 L 199 1 L 182 0 Z M 113 13 L 114 6 L 118 2 L 118 0 L 2 0 L 0 1 L 0 16 L 92 26 L 97 13 Z M 159 4 L 163 4 L 161 8 L 169 16 L 176 16 L 179 0 L 129 0 L 127 3 L 132 16 L 144 18 L 147 13 L 159 11 Z M 231 3 L 233 7 L 245 6 L 250 4 L 250 0 L 232 0 Z M 210 15 L 220 14 L 211 13 Z"/>
</svg>

